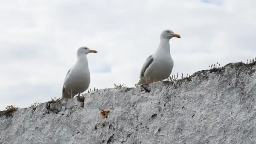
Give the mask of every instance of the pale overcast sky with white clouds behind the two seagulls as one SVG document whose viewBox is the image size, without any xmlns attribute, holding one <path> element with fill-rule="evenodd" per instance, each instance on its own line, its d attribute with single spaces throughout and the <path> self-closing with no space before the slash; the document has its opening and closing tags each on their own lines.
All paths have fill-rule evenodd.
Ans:
<svg viewBox="0 0 256 144">
<path fill-rule="evenodd" d="M 61 97 L 80 46 L 89 88 L 134 87 L 160 33 L 172 29 L 172 74 L 256 57 L 256 0 L 1 0 L 0 109 Z"/>
</svg>

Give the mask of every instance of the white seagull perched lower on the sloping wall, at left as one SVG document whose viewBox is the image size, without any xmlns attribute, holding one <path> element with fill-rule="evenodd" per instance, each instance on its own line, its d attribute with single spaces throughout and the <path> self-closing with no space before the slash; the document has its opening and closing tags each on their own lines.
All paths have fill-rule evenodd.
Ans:
<svg viewBox="0 0 256 144">
<path fill-rule="evenodd" d="M 86 55 L 90 52 L 97 53 L 96 50 L 82 46 L 77 52 L 77 60 L 74 66 L 67 71 L 62 88 L 62 98 L 71 98 L 76 94 L 84 92 L 90 85 L 90 71 Z"/>
</svg>

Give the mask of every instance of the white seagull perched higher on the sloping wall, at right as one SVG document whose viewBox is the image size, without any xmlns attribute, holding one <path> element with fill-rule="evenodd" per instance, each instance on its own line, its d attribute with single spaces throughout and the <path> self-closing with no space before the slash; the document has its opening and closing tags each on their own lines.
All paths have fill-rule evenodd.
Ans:
<svg viewBox="0 0 256 144">
<path fill-rule="evenodd" d="M 149 55 L 140 71 L 140 80 L 137 85 L 146 84 L 147 81 L 161 81 L 172 73 L 173 60 L 170 54 L 169 40 L 172 37 L 180 38 L 172 30 L 166 29 L 160 35 L 157 50 Z"/>
</svg>

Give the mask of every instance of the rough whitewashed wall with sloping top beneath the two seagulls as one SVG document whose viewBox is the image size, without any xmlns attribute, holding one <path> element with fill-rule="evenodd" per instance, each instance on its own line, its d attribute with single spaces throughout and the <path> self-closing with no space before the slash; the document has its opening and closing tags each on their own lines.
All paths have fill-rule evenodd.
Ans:
<svg viewBox="0 0 256 144">
<path fill-rule="evenodd" d="M 255 144 L 256 63 L 0 117 L 0 144 Z M 150 91 L 150 92 L 149 92 Z M 102 123 L 100 109 L 111 109 Z"/>
</svg>

